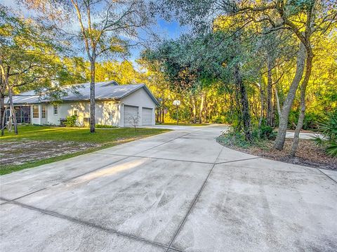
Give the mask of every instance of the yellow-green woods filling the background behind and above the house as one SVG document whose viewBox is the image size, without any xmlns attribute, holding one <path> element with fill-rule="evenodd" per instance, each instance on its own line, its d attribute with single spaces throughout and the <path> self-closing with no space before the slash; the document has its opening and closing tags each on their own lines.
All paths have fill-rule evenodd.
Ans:
<svg viewBox="0 0 337 252">
<path fill-rule="evenodd" d="M 13 93 L 36 90 L 57 100 L 60 87 L 90 81 L 94 132 L 95 81 L 105 79 L 147 84 L 160 103 L 158 123 L 176 121 L 172 102 L 180 100 L 179 121 L 231 124 L 248 142 L 277 128 L 277 150 L 284 147 L 286 130 L 294 129 L 292 155 L 301 129 L 319 128 L 337 117 L 334 1 L 21 4 L 36 11 L 37 18 L 1 6 L 1 128 L 5 96 L 11 101 Z M 176 20 L 188 31 L 145 46 L 139 31 L 152 34 L 158 17 Z M 64 29 L 71 23 L 79 29 Z M 126 58 L 129 48 L 140 44 L 145 47 L 135 65 Z M 51 86 L 51 81 L 60 86 Z M 337 153 L 335 135 L 331 139 Z"/>
</svg>

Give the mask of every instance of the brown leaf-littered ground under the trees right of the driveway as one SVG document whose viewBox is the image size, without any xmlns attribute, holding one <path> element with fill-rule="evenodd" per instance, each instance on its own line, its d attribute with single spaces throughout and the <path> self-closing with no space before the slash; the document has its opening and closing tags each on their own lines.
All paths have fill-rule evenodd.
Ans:
<svg viewBox="0 0 337 252">
<path fill-rule="evenodd" d="M 301 139 L 298 145 L 296 157 L 290 157 L 289 153 L 293 144 L 292 139 L 286 139 L 284 150 L 279 151 L 272 148 L 274 142 L 268 141 L 263 147 L 241 148 L 234 145 L 226 146 L 233 150 L 239 150 L 265 159 L 282 161 L 290 164 L 298 164 L 301 166 L 310 166 L 314 168 L 323 168 L 328 170 L 337 169 L 337 158 L 329 157 L 324 150 L 317 147 L 312 141 Z"/>
</svg>

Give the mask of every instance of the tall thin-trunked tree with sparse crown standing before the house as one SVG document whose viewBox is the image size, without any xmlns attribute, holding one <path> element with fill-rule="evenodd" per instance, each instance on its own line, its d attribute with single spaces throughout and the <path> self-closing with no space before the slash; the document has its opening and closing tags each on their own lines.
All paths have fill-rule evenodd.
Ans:
<svg viewBox="0 0 337 252">
<path fill-rule="evenodd" d="M 149 24 L 150 15 L 143 0 L 25 0 L 29 8 L 43 11 L 48 18 L 53 16 L 53 8 L 62 6 L 62 17 L 70 22 L 77 20 L 79 34 L 70 31 L 83 43 L 90 62 L 90 132 L 95 132 L 95 63 L 98 58 L 108 55 L 124 54 L 127 47 L 138 38 L 138 29 Z M 55 25 L 58 22 L 54 22 Z M 63 29 L 63 27 L 58 27 Z M 126 39 L 127 37 L 131 39 Z M 139 41 L 136 41 L 136 44 Z"/>
</svg>

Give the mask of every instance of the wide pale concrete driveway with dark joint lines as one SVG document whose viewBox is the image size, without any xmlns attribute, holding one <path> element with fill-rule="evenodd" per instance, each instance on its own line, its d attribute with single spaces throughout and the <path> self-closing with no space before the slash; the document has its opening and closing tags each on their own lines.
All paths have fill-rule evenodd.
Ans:
<svg viewBox="0 0 337 252">
<path fill-rule="evenodd" d="M 337 172 L 184 127 L 1 176 L 1 251 L 337 251 Z"/>
</svg>

